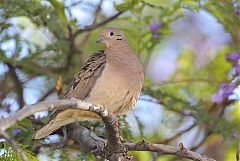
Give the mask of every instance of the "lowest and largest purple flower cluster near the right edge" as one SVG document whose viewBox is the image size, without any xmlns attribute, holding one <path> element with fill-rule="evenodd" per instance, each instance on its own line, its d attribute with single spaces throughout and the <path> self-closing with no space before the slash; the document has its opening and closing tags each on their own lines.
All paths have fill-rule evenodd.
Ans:
<svg viewBox="0 0 240 161">
<path fill-rule="evenodd" d="M 218 91 L 212 96 L 212 102 L 215 103 L 223 102 L 229 95 L 233 93 L 235 87 L 236 87 L 235 84 L 227 83 L 221 84 Z"/>
</svg>

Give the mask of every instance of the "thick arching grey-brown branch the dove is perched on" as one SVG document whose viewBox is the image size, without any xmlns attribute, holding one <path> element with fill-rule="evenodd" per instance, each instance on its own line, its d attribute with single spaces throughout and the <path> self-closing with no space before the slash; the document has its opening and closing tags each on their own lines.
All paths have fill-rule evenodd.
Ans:
<svg viewBox="0 0 240 161">
<path fill-rule="evenodd" d="M 163 144 L 150 144 L 145 141 L 139 143 L 129 142 L 123 143 L 120 139 L 117 117 L 111 111 L 107 110 L 101 105 L 95 105 L 80 100 L 58 100 L 49 102 L 39 102 L 33 105 L 26 105 L 22 109 L 20 109 L 15 115 L 12 115 L 6 119 L 1 120 L 0 131 L 4 132 L 10 126 L 16 124 L 18 121 L 32 115 L 35 112 L 69 108 L 95 112 L 96 114 L 102 117 L 103 122 L 105 123 L 107 141 L 96 136 L 93 132 L 84 127 L 81 127 L 80 129 L 79 128 L 80 126 L 77 124 L 73 124 L 72 127 L 70 127 L 72 129 L 77 129 L 77 131 L 70 129 L 72 131 L 72 133 L 70 133 L 70 136 L 79 144 L 84 143 L 88 145 L 87 150 L 91 150 L 93 154 L 99 155 L 108 160 L 111 161 L 132 160 L 132 158 L 127 155 L 127 152 L 129 150 L 129 151 L 152 151 L 164 155 L 170 154 L 197 161 L 214 161 L 211 158 L 187 150 L 182 144 L 179 145 L 179 148 L 175 148 Z M 79 135 L 80 134 L 78 132 L 79 130 L 81 131 L 80 132 L 81 135 Z M 84 140 L 84 142 L 81 142 L 82 140 Z"/>
</svg>

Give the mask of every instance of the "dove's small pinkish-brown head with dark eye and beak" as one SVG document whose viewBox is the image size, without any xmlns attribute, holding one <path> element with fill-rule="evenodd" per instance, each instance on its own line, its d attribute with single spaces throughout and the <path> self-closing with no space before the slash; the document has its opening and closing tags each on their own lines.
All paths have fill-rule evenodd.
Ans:
<svg viewBox="0 0 240 161">
<path fill-rule="evenodd" d="M 126 44 L 127 40 L 124 34 L 115 28 L 107 28 L 100 32 L 100 37 L 97 43 L 104 43 L 107 47 L 115 46 L 118 44 Z"/>
</svg>

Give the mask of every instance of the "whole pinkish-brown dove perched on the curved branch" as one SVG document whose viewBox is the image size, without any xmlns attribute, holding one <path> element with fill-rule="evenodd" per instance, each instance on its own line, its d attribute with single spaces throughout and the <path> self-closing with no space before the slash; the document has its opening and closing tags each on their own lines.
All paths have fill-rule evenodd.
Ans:
<svg viewBox="0 0 240 161">
<path fill-rule="evenodd" d="M 82 66 L 65 98 L 86 100 L 103 105 L 114 114 L 125 114 L 134 107 L 141 92 L 144 79 L 142 64 L 118 29 L 102 30 L 97 40 L 100 42 L 106 49 L 94 53 Z M 73 122 L 97 119 L 100 119 L 98 115 L 88 111 L 58 110 L 33 138 L 41 139 Z"/>
</svg>

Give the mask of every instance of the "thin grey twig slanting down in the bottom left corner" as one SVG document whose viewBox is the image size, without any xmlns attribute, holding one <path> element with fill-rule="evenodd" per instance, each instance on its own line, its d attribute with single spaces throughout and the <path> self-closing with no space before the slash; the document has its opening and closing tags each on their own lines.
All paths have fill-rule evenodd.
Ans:
<svg viewBox="0 0 240 161">
<path fill-rule="evenodd" d="M 10 144 L 12 144 L 13 149 L 22 158 L 23 161 L 28 161 L 28 158 L 24 154 L 24 152 L 21 150 L 21 148 L 17 145 L 17 143 L 7 133 L 0 130 L 0 136 L 4 137 Z"/>
</svg>

